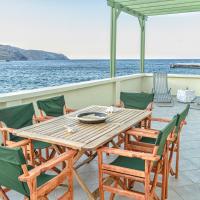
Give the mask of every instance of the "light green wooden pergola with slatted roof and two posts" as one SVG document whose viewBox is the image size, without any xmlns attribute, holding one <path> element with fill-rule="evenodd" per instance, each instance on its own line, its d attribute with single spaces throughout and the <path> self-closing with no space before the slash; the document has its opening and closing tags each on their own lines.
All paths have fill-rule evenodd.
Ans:
<svg viewBox="0 0 200 200">
<path fill-rule="evenodd" d="M 111 6 L 110 75 L 116 75 L 117 19 L 121 12 L 138 18 L 141 29 L 140 71 L 144 72 L 145 23 L 148 16 L 200 11 L 200 0 L 107 0 Z"/>
</svg>

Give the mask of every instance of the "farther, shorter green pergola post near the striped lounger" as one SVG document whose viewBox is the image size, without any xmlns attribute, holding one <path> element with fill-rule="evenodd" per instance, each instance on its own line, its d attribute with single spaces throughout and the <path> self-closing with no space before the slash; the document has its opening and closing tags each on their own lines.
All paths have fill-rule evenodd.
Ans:
<svg viewBox="0 0 200 200">
<path fill-rule="evenodd" d="M 146 17 L 138 17 L 140 23 L 140 72 L 144 73 L 144 60 L 145 60 L 145 21 Z"/>
</svg>

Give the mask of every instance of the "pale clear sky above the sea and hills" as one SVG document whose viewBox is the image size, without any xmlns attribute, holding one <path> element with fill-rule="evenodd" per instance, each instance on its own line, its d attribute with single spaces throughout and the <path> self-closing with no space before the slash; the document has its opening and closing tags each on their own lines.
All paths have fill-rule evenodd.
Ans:
<svg viewBox="0 0 200 200">
<path fill-rule="evenodd" d="M 0 44 L 63 53 L 71 59 L 110 55 L 106 0 L 0 0 Z M 200 58 L 200 12 L 149 17 L 146 58 Z M 117 58 L 139 58 L 137 18 L 118 20 Z"/>
</svg>

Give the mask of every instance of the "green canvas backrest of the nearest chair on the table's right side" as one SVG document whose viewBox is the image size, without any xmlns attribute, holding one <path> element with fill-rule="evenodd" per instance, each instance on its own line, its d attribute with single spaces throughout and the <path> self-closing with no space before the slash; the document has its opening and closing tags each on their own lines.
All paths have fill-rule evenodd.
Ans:
<svg viewBox="0 0 200 200">
<path fill-rule="evenodd" d="M 164 152 L 164 147 L 165 144 L 167 142 L 167 138 L 169 136 L 169 134 L 174 130 L 174 128 L 176 127 L 177 124 L 177 120 L 178 120 L 178 115 L 175 115 L 173 117 L 173 119 L 170 121 L 169 124 L 167 124 L 167 126 L 165 126 L 161 131 L 160 134 L 158 135 L 158 138 L 156 140 L 156 146 L 158 146 L 158 152 L 157 154 L 162 156 L 163 152 Z"/>
</svg>

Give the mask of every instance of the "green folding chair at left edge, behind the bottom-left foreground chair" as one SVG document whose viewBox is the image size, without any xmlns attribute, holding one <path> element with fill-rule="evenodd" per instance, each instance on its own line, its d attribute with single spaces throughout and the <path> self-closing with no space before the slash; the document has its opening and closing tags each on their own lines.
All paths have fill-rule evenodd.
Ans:
<svg viewBox="0 0 200 200">
<path fill-rule="evenodd" d="M 0 109 L 1 128 L 4 127 L 14 128 L 14 129 L 24 128 L 26 126 L 33 125 L 34 118 L 35 118 L 35 111 L 32 103 Z M 2 134 L 3 134 L 3 144 L 5 146 L 25 139 L 22 137 L 15 136 L 11 133 L 7 133 L 7 131 L 2 131 Z M 48 148 L 51 146 L 51 144 L 35 140 L 32 142 L 32 144 L 33 144 L 33 150 L 31 150 L 30 147 L 31 158 L 34 155 L 37 155 L 40 163 L 49 158 Z M 42 152 L 41 152 L 42 149 L 46 149 L 46 156 L 47 156 L 46 159 L 42 157 Z M 55 154 L 55 152 L 52 152 L 52 154 Z M 51 157 L 52 156 L 53 155 L 51 155 Z M 34 163 L 34 160 L 32 162 Z"/>
</svg>

